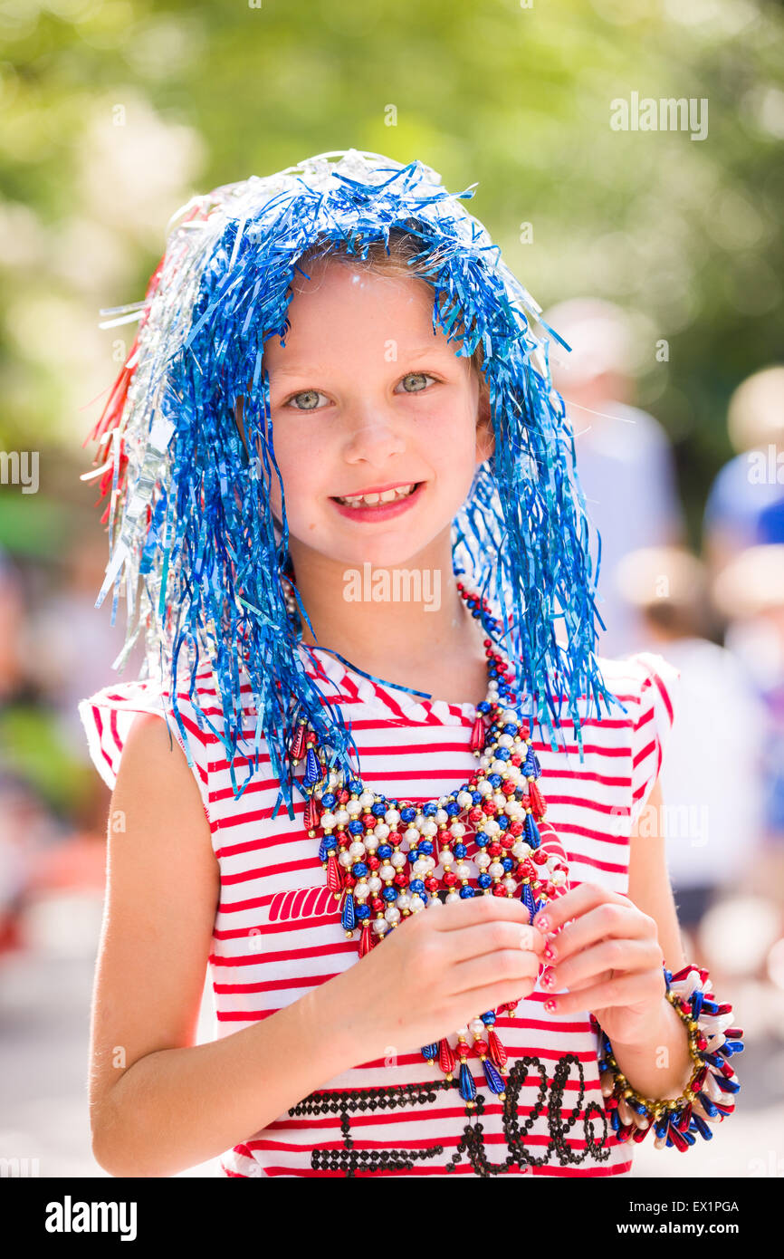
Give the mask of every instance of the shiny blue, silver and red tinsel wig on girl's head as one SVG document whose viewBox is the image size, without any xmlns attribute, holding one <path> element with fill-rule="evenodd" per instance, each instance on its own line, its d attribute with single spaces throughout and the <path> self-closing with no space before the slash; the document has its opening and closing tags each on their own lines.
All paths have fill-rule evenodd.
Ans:
<svg viewBox="0 0 784 1259">
<path fill-rule="evenodd" d="M 126 645 L 115 667 L 122 669 L 143 633 L 142 676 L 170 670 L 188 745 L 175 685 L 185 663 L 199 720 L 218 734 L 232 763 L 242 755 L 244 660 L 258 714 L 255 764 L 249 762 L 242 786 L 232 771 L 234 791 L 239 796 L 258 767 L 263 735 L 281 781 L 278 805 L 283 798 L 292 816 L 297 779 L 287 744 L 294 719 L 310 721 L 336 768 L 347 771 L 354 759 L 359 769 L 340 709 L 297 650 L 282 587 L 286 501 L 282 530 L 269 501 L 279 472 L 262 351 L 266 340 L 284 334 L 297 261 L 315 246 L 364 257 L 370 240 L 388 244 L 393 228 L 420 242 L 417 274 L 434 291 L 433 327 L 454 337 L 458 355 L 481 346 L 495 433 L 493 454 L 454 521 L 454 570 L 469 575 L 502 624 L 511 622 L 500 646 L 552 745 L 563 696 L 580 753 L 579 697 L 589 714 L 595 704 L 596 715 L 599 699 L 608 709 L 614 701 L 595 658 L 599 559 L 594 570 L 574 438 L 551 384 L 547 337 L 531 331 L 540 307 L 461 205 L 472 189 L 448 193 L 419 161 L 401 166 L 354 149 L 333 164 L 336 156 L 224 185 L 177 212 L 145 301 L 118 308 L 121 317 L 103 325 L 141 321 L 92 434 L 107 446 L 102 487 L 111 491 L 111 558 L 96 606 L 113 587 L 112 623 L 126 579 Z M 569 349 L 554 330 L 546 332 Z M 260 449 L 260 460 L 248 457 L 238 432 L 240 395 L 248 447 Z M 556 642 L 557 621 L 564 645 Z M 205 655 L 223 728 L 195 695 Z"/>
</svg>

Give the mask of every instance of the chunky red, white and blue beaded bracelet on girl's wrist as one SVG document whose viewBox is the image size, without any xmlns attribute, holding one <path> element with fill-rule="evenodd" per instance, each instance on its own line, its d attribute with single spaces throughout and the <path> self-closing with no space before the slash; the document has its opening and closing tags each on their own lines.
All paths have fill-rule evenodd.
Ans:
<svg viewBox="0 0 784 1259">
<path fill-rule="evenodd" d="M 697 1134 L 710 1141 L 714 1133 L 708 1124 L 721 1123 L 735 1109 L 740 1083 L 729 1059 L 744 1047 L 742 1029 L 730 1026 L 732 1006 L 716 1002 L 707 980 L 707 971 L 697 966 L 685 966 L 676 974 L 664 966 L 667 1000 L 686 1024 L 693 1060 L 688 1084 L 677 1098 L 644 1098 L 633 1089 L 618 1068 L 609 1037 L 591 1015 L 602 1046 L 604 1108 L 619 1142 L 629 1137 L 644 1141 L 653 1128 L 657 1149 L 675 1146 L 685 1151 L 695 1144 Z"/>
</svg>

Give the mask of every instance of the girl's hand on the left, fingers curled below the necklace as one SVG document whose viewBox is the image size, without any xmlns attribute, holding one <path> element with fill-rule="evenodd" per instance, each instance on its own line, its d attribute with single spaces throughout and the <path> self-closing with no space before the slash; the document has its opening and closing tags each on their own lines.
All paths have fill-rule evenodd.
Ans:
<svg viewBox="0 0 784 1259">
<path fill-rule="evenodd" d="M 340 976 L 357 1063 L 430 1045 L 530 996 L 544 948 L 517 898 L 473 896 L 403 919 Z"/>
</svg>

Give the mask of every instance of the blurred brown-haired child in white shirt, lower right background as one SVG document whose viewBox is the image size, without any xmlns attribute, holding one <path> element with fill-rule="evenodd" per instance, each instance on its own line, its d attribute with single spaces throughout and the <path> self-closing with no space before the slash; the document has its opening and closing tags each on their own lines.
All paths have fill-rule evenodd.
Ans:
<svg viewBox="0 0 784 1259">
<path fill-rule="evenodd" d="M 736 656 L 711 641 L 716 616 L 705 565 L 683 548 L 646 548 L 624 556 L 618 597 L 642 619 L 643 650 L 681 670 L 678 711 L 661 781 L 667 862 L 688 934 L 687 954 L 720 982 L 701 923 L 721 898 L 753 888 L 763 847 L 766 714 Z"/>
</svg>

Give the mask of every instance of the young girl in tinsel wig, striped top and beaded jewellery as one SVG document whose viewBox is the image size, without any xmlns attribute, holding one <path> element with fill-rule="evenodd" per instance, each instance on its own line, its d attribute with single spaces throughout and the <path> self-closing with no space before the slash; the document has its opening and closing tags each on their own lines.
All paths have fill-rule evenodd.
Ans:
<svg viewBox="0 0 784 1259">
<path fill-rule="evenodd" d="M 336 156 L 176 217 L 94 432 L 98 603 L 147 645 L 79 705 L 113 787 L 94 1155 L 627 1175 L 739 1087 L 658 823 L 677 672 L 594 655 L 539 307 L 471 190 Z"/>
</svg>

